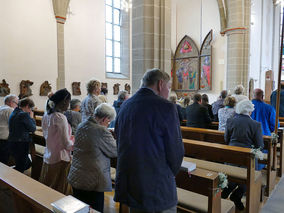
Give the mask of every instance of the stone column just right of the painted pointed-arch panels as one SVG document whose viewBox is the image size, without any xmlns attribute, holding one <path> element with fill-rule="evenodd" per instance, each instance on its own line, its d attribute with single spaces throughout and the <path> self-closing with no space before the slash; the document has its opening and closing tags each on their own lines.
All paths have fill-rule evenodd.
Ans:
<svg viewBox="0 0 284 213">
<path fill-rule="evenodd" d="M 251 0 L 226 0 L 227 89 L 242 84 L 248 92 Z"/>
</svg>

